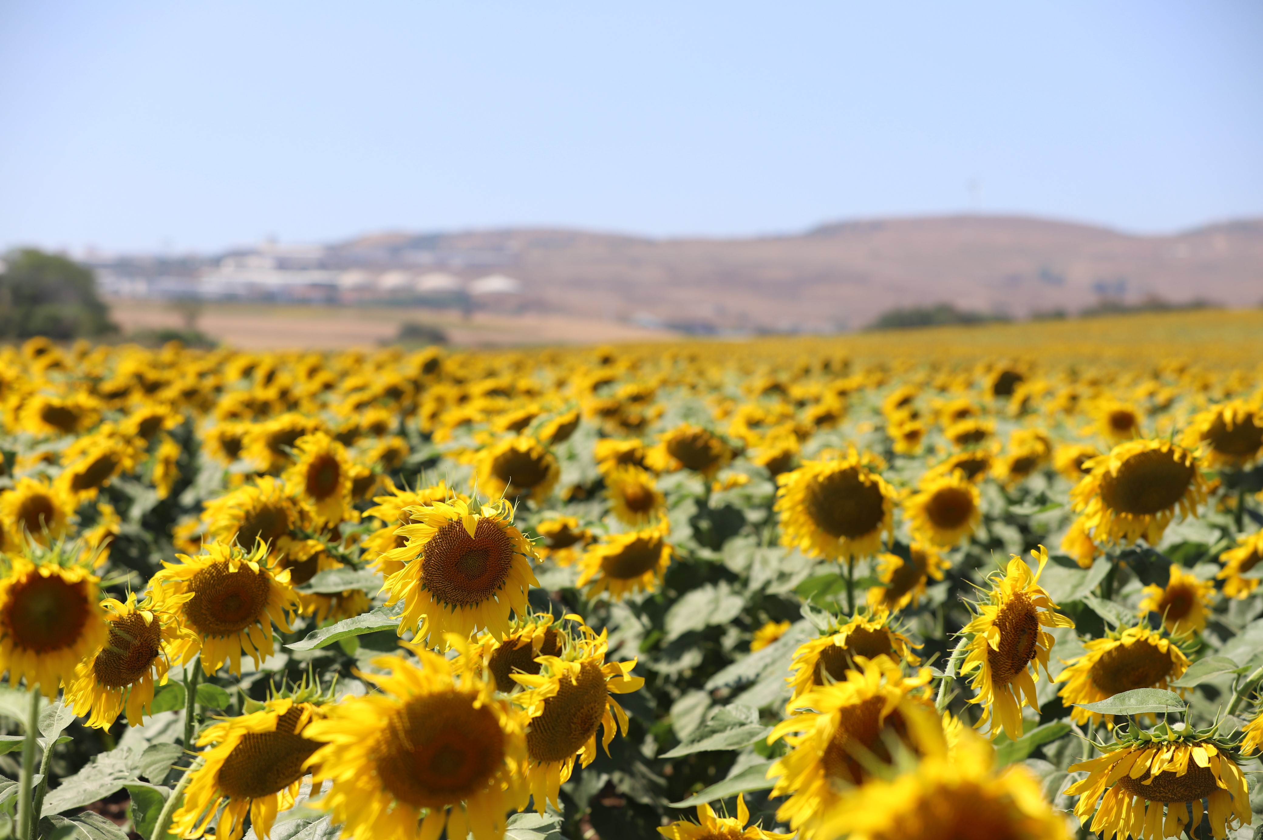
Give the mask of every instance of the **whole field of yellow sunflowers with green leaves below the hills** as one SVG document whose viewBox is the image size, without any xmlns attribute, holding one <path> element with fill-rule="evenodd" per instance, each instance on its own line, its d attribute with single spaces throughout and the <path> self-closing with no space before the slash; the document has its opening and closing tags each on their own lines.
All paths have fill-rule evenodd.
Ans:
<svg viewBox="0 0 1263 840">
<path fill-rule="evenodd" d="M 1260 836 L 1260 315 L 0 347 L 0 836 Z"/>
</svg>

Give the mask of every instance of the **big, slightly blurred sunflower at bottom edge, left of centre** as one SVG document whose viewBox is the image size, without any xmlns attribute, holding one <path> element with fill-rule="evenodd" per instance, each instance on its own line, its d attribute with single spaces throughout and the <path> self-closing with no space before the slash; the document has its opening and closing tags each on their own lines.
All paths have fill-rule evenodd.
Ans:
<svg viewBox="0 0 1263 840">
<path fill-rule="evenodd" d="M 498 840 L 505 813 L 525 805 L 525 714 L 475 672 L 413 647 L 421 667 L 378 657 L 365 673 L 380 693 L 349 697 L 303 733 L 323 745 L 308 759 L 317 802 L 342 836 Z M 424 816 L 422 816 L 424 815 Z"/>
</svg>

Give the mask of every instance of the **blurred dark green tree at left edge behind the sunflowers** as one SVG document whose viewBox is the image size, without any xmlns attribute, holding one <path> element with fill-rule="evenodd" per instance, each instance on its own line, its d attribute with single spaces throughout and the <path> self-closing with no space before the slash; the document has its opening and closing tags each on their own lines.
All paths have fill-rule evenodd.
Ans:
<svg viewBox="0 0 1263 840">
<path fill-rule="evenodd" d="M 0 339 L 80 339 L 116 331 L 90 269 L 33 248 L 5 256 Z"/>
</svg>

